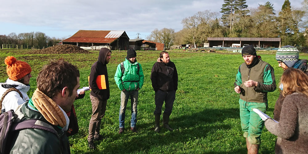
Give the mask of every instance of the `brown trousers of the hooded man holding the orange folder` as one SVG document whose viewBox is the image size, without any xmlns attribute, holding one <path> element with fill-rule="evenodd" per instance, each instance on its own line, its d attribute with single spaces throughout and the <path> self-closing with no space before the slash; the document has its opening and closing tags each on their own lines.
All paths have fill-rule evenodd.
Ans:
<svg viewBox="0 0 308 154">
<path fill-rule="evenodd" d="M 94 137 L 99 137 L 100 123 L 105 115 L 107 100 L 100 100 L 90 94 L 92 103 L 92 115 L 89 123 L 88 141 L 94 140 Z"/>
</svg>

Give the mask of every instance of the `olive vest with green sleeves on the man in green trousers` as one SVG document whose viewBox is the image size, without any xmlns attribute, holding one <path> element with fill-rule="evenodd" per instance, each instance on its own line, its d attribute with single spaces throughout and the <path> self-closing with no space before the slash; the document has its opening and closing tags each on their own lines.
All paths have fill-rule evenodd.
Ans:
<svg viewBox="0 0 308 154">
<path fill-rule="evenodd" d="M 269 63 L 266 63 L 259 58 L 259 63 L 248 68 L 245 63 L 242 63 L 238 68 L 234 87 L 240 86 L 240 99 L 246 102 L 265 103 L 267 102 L 267 92 L 275 91 L 276 81 L 274 69 Z M 246 87 L 244 82 L 253 80 L 258 82 L 257 87 Z"/>
</svg>

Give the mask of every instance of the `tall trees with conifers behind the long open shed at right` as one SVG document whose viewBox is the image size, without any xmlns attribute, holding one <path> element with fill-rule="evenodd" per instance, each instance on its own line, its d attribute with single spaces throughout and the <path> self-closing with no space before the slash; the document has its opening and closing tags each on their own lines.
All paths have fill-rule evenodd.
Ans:
<svg viewBox="0 0 308 154">
<path fill-rule="evenodd" d="M 182 20 L 182 30 L 155 29 L 146 39 L 164 43 L 166 48 L 180 44 L 203 47 L 208 37 L 279 37 L 282 46 L 308 46 L 308 0 L 301 8 L 291 8 L 290 1 L 285 0 L 279 11 L 269 1 L 248 8 L 246 0 L 224 0 L 220 13 L 199 11 Z"/>
</svg>

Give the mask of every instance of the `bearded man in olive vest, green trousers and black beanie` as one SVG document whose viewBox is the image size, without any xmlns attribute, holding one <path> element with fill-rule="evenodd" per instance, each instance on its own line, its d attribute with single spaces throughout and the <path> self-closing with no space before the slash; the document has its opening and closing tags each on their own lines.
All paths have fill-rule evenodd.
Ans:
<svg viewBox="0 0 308 154">
<path fill-rule="evenodd" d="M 253 111 L 257 108 L 264 112 L 267 109 L 267 92 L 275 91 L 274 69 L 269 63 L 257 56 L 253 46 L 242 49 L 245 63 L 238 68 L 234 91 L 240 94 L 241 127 L 246 138 L 248 153 L 258 153 L 261 144 L 261 132 L 264 121 Z"/>
</svg>

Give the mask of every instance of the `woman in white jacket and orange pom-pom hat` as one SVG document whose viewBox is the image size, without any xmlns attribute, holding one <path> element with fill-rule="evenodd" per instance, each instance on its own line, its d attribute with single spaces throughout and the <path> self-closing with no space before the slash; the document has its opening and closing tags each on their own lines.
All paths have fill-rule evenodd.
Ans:
<svg viewBox="0 0 308 154">
<path fill-rule="evenodd" d="M 30 89 L 29 82 L 32 77 L 32 70 L 28 63 L 17 60 L 13 56 L 6 57 L 4 62 L 6 64 L 6 73 L 9 78 L 5 83 L 0 83 L 0 97 L 1 100 L 3 99 L 1 108 L 2 113 L 11 109 L 15 111 L 18 105 L 29 100 L 27 92 Z M 6 92 L 8 93 L 2 98 L 3 94 Z"/>
</svg>

